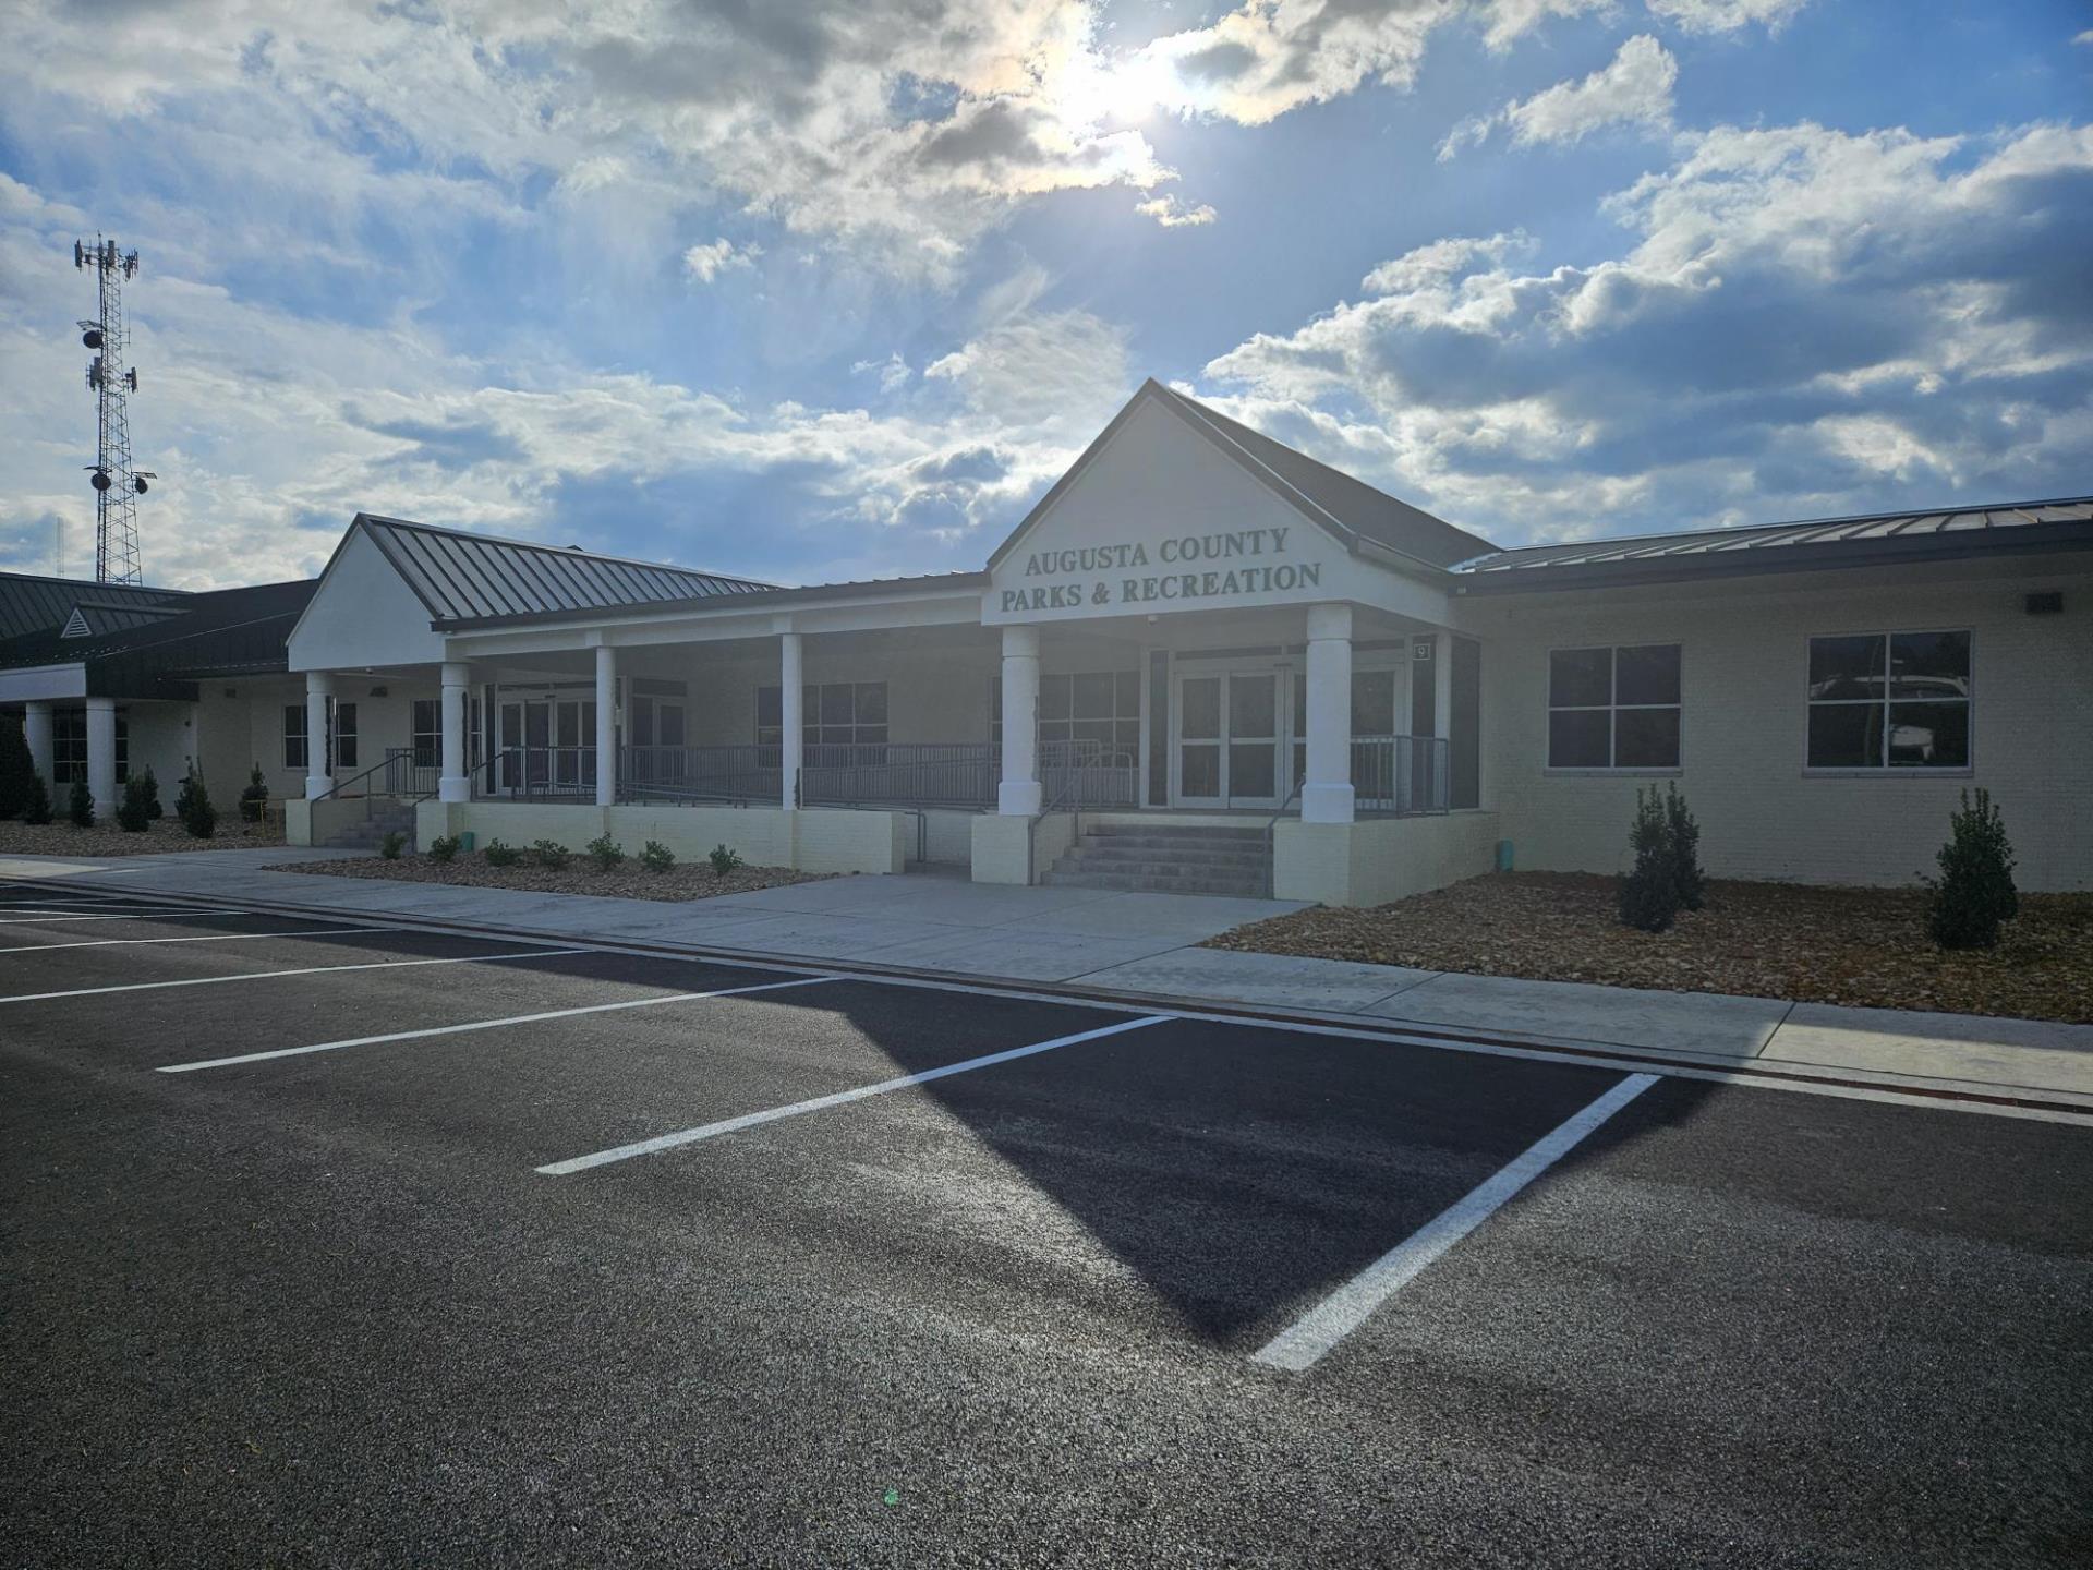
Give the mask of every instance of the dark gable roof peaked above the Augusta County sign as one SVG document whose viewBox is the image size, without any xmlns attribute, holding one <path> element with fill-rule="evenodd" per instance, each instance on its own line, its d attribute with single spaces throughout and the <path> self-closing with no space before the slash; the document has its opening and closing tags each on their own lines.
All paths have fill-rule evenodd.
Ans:
<svg viewBox="0 0 2093 1570">
<path fill-rule="evenodd" d="M 1023 521 L 996 546 L 988 557 L 990 569 L 1017 548 L 1017 542 L 1061 500 L 1076 477 L 1088 469 L 1090 458 L 1120 433 L 1120 427 L 1145 402 L 1168 408 L 1203 435 L 1222 456 L 1239 465 L 1310 523 L 1335 536 L 1346 548 L 1356 551 L 1360 542 L 1371 542 L 1409 557 L 1423 567 L 1438 569 L 1496 548 L 1480 534 L 1457 530 L 1453 523 L 1432 517 L 1423 509 L 1396 500 L 1388 492 L 1375 490 L 1348 473 L 1340 473 L 1327 463 L 1310 458 L 1306 452 L 1296 452 L 1283 442 L 1275 442 L 1262 431 L 1254 431 L 1220 410 L 1208 408 L 1199 400 L 1172 391 L 1149 377 L 1126 400 L 1126 406 L 1111 417 L 1111 423 L 1099 431 L 1097 440 L 1082 450 L 1082 456 L 1070 465 L 1067 473 L 1040 496 Z"/>
</svg>

